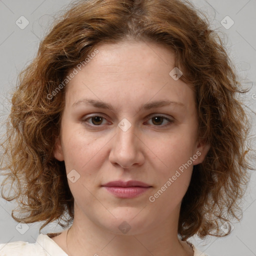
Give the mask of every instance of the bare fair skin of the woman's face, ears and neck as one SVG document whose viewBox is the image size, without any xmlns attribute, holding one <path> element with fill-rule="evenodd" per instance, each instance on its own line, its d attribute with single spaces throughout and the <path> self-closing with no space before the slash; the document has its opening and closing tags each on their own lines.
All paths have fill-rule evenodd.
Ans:
<svg viewBox="0 0 256 256">
<path fill-rule="evenodd" d="M 164 46 L 127 40 L 100 44 L 97 49 L 66 87 L 54 157 L 65 161 L 67 174 L 75 169 L 80 177 L 74 183 L 68 179 L 74 197 L 68 249 L 66 230 L 52 239 L 77 256 L 191 256 L 191 247 L 177 237 L 179 210 L 193 165 L 202 162 L 209 149 L 196 137 L 194 92 L 169 75 L 174 54 Z M 113 110 L 83 102 L 72 106 L 83 98 L 107 102 Z M 141 108 L 154 100 L 173 100 L 184 106 Z M 92 115 L 103 119 L 89 118 Z M 154 121 L 152 117 L 159 115 L 172 122 Z M 118 126 L 123 118 L 131 124 L 127 131 Z M 200 156 L 150 202 L 149 196 L 198 151 Z M 101 186 L 119 179 L 139 180 L 152 187 L 135 198 L 118 198 Z M 123 221 L 131 227 L 125 234 L 118 228 Z"/>
</svg>

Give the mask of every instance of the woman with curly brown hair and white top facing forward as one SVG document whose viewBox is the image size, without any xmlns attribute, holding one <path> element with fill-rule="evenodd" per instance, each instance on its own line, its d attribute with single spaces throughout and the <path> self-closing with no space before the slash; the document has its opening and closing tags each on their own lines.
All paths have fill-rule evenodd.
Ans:
<svg viewBox="0 0 256 256">
<path fill-rule="evenodd" d="M 189 2 L 73 3 L 19 76 L 1 166 L 15 220 L 72 225 L 0 255 L 198 256 L 189 237 L 229 234 L 249 123 L 217 38 Z"/>
</svg>

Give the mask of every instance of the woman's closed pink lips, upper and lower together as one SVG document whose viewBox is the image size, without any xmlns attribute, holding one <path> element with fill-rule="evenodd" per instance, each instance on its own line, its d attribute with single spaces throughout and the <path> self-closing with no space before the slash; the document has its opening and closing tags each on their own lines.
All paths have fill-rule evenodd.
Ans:
<svg viewBox="0 0 256 256">
<path fill-rule="evenodd" d="M 149 184 L 137 181 L 137 180 L 129 180 L 129 181 L 110 181 L 106 184 L 102 185 L 105 189 L 111 194 L 119 197 L 119 198 L 133 198 L 136 197 L 146 190 L 150 189 Z"/>
</svg>

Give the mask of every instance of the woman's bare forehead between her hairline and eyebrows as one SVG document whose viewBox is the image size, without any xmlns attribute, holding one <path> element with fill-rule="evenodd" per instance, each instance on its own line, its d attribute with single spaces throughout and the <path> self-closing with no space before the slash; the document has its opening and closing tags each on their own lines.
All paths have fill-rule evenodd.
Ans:
<svg viewBox="0 0 256 256">
<path fill-rule="evenodd" d="M 98 53 L 68 82 L 66 104 L 82 97 L 112 105 L 140 105 L 150 99 L 193 103 L 190 86 L 169 74 L 175 67 L 172 50 L 144 41 L 100 44 L 96 49 Z"/>
</svg>

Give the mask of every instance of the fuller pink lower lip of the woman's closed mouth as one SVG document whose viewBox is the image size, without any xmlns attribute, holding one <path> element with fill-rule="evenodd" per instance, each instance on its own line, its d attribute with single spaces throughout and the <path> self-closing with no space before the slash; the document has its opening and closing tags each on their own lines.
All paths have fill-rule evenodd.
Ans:
<svg viewBox="0 0 256 256">
<path fill-rule="evenodd" d="M 150 188 L 150 187 L 143 187 L 143 186 L 130 186 L 130 187 L 104 186 L 104 187 L 108 192 L 121 198 L 135 197 Z"/>
</svg>

